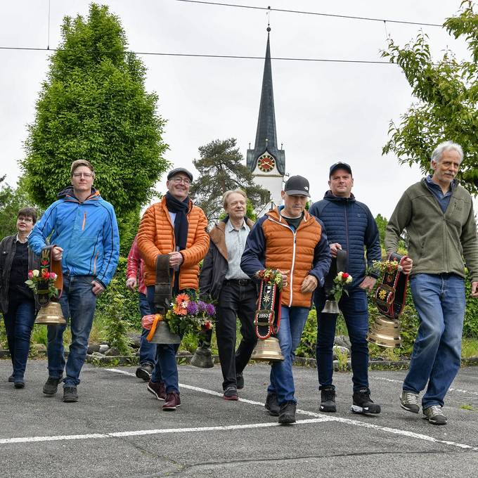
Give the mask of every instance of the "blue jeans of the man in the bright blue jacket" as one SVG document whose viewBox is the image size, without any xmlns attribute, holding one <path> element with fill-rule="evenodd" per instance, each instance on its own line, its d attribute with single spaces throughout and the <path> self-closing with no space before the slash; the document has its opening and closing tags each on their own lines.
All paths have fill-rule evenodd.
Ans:
<svg viewBox="0 0 478 478">
<path fill-rule="evenodd" d="M 63 292 L 60 306 L 63 316 L 69 319 L 72 332 L 70 354 L 66 362 L 64 387 L 76 387 L 79 384 L 79 373 L 82 370 L 88 339 L 93 324 L 96 307 L 96 295 L 91 291 L 93 276 L 63 276 Z M 63 350 L 63 332 L 65 325 L 48 326 L 48 370 L 49 376 L 60 378 L 65 368 Z"/>
</svg>

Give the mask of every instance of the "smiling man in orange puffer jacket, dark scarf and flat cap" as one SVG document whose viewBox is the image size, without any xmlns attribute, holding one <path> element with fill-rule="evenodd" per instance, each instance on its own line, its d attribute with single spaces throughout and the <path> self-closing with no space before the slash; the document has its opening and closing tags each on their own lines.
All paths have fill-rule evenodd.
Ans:
<svg viewBox="0 0 478 478">
<path fill-rule="evenodd" d="M 151 309 L 154 309 L 156 259 L 169 254 L 174 295 L 186 289 L 198 289 L 199 263 L 207 254 L 209 235 L 202 209 L 189 198 L 193 175 L 185 168 L 172 169 L 167 175 L 167 193 L 160 202 L 146 209 L 138 230 L 138 248 L 145 262 L 144 282 Z M 176 351 L 179 345 L 157 344 L 156 365 L 148 391 L 164 400 L 163 410 L 176 410 L 179 398 Z"/>
</svg>

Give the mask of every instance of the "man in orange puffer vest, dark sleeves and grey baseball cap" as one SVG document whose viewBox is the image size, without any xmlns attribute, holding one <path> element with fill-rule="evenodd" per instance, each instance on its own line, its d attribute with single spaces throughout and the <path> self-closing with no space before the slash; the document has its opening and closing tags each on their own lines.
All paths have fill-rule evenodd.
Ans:
<svg viewBox="0 0 478 478">
<path fill-rule="evenodd" d="M 252 228 L 240 267 L 254 278 L 264 268 L 283 278 L 280 327 L 283 361 L 273 362 L 265 407 L 281 424 L 295 422 L 292 360 L 311 309 L 312 292 L 321 287 L 330 266 L 330 250 L 321 221 L 306 210 L 309 181 L 291 176 L 282 191 L 284 205 L 269 211 Z"/>
</svg>

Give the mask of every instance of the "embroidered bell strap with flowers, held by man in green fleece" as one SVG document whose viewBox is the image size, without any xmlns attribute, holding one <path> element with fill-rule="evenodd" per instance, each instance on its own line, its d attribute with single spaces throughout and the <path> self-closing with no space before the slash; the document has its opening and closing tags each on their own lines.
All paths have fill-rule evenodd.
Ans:
<svg viewBox="0 0 478 478">
<path fill-rule="evenodd" d="M 397 261 L 400 265 L 407 256 L 401 256 L 392 252 L 387 259 L 389 261 Z M 393 273 L 385 273 L 382 277 L 382 282 L 378 285 L 375 292 L 375 303 L 377 309 L 384 316 L 389 318 L 398 318 L 401 314 L 406 299 L 406 287 L 408 284 L 408 275 L 401 271 Z"/>
</svg>

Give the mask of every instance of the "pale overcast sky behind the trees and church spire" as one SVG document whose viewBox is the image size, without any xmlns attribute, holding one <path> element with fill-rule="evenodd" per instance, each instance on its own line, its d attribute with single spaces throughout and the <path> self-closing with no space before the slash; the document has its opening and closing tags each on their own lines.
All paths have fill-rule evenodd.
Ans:
<svg viewBox="0 0 478 478">
<path fill-rule="evenodd" d="M 140 52 L 264 56 L 264 10 L 192 4 L 176 0 L 117 0 L 108 4 L 120 17 L 129 48 Z M 232 2 L 231 2 L 232 3 Z M 386 20 L 439 23 L 453 15 L 460 0 L 235 0 L 235 4 L 285 8 Z M 86 15 L 88 1 L 2 2 L 0 46 L 51 48 L 60 41 L 64 15 Z M 463 41 L 443 28 L 271 13 L 271 56 L 334 60 L 381 60 L 386 35 L 397 44 L 429 35 L 434 58 L 448 46 L 467 58 Z M 12 186 L 26 125 L 34 119 L 41 82 L 49 66 L 46 51 L 0 50 L 0 174 Z M 158 112 L 167 120 L 166 157 L 193 172 L 198 147 L 235 137 L 245 155 L 254 144 L 264 60 L 141 55 L 148 68 L 146 88 L 160 96 Z M 403 190 L 420 179 L 417 167 L 382 156 L 389 121 L 398 121 L 413 102 L 411 87 L 396 65 L 272 61 L 278 143 L 285 149 L 288 174 L 301 174 L 320 199 L 328 189 L 328 168 L 349 162 L 354 194 L 374 216 L 389 217 Z M 164 191 L 164 181 L 158 189 Z"/>
</svg>

